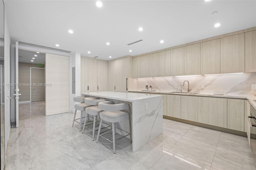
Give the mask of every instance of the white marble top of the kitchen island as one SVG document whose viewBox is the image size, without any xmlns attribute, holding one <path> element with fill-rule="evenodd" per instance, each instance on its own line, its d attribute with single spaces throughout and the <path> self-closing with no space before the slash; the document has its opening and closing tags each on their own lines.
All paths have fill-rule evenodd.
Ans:
<svg viewBox="0 0 256 170">
<path fill-rule="evenodd" d="M 82 93 L 82 95 L 92 95 L 95 97 L 122 100 L 122 101 L 128 101 L 128 102 L 160 96 L 160 95 L 152 95 L 152 94 L 114 92 L 114 91 L 89 92 L 89 93 Z"/>
</svg>

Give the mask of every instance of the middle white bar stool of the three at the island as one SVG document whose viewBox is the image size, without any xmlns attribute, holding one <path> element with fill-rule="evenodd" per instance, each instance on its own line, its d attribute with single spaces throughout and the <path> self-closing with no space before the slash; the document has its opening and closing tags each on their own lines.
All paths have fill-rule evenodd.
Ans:
<svg viewBox="0 0 256 170">
<path fill-rule="evenodd" d="M 94 132 L 95 132 L 95 124 L 96 124 L 96 119 L 97 117 L 100 115 L 100 112 L 102 112 L 102 110 L 100 110 L 98 108 L 98 103 L 102 102 L 102 101 L 106 101 L 105 99 L 84 99 L 84 102 L 88 105 L 92 105 L 90 107 L 86 107 L 85 108 L 85 120 L 84 120 L 84 127 L 82 130 L 82 133 L 84 133 L 84 128 L 86 127 L 86 118 L 87 115 L 92 115 L 93 116 L 93 129 L 90 129 L 88 127 L 88 129 L 92 130 L 92 140 L 94 140 Z"/>
</svg>

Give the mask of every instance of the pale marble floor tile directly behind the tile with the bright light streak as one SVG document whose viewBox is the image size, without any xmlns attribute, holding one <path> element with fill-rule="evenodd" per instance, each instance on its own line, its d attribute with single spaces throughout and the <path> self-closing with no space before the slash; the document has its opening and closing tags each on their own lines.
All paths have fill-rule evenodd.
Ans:
<svg viewBox="0 0 256 170">
<path fill-rule="evenodd" d="M 170 150 L 211 166 L 216 148 L 209 147 L 200 142 L 181 138 L 172 148 L 170 148 Z"/>
</svg>

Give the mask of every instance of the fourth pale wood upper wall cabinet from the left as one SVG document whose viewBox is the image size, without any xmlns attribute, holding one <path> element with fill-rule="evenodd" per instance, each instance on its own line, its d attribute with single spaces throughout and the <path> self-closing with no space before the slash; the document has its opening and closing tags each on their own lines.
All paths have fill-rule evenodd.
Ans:
<svg viewBox="0 0 256 170">
<path fill-rule="evenodd" d="M 159 77 L 171 75 L 171 53 L 170 50 L 159 52 Z"/>
</svg>

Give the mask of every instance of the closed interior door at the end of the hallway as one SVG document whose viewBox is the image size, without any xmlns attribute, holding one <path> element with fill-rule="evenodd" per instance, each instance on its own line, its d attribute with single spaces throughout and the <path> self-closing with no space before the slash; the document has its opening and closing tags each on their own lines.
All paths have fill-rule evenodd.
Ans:
<svg viewBox="0 0 256 170">
<path fill-rule="evenodd" d="M 44 68 L 30 67 L 31 101 L 45 100 L 45 73 Z"/>
</svg>

